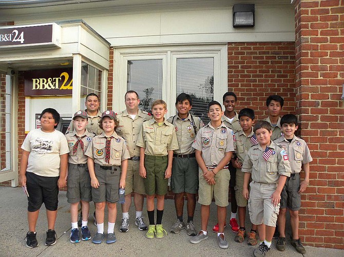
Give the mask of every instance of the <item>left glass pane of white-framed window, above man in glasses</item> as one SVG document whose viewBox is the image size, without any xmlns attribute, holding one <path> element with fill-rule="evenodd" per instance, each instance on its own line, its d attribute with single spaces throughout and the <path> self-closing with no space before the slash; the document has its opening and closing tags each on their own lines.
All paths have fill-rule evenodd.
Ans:
<svg viewBox="0 0 344 257">
<path fill-rule="evenodd" d="M 151 112 L 151 103 L 162 98 L 162 60 L 130 60 L 127 63 L 127 90 L 140 97 L 140 109 Z"/>
</svg>

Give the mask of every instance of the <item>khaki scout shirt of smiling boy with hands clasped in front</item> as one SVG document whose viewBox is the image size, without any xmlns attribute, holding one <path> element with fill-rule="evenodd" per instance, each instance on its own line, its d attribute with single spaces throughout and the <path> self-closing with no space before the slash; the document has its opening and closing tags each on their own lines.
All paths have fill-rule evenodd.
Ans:
<svg viewBox="0 0 344 257">
<path fill-rule="evenodd" d="M 216 129 L 209 122 L 197 133 L 192 147 L 202 151 L 206 166 L 216 166 L 225 153 L 234 152 L 233 131 L 222 122 Z"/>
</svg>

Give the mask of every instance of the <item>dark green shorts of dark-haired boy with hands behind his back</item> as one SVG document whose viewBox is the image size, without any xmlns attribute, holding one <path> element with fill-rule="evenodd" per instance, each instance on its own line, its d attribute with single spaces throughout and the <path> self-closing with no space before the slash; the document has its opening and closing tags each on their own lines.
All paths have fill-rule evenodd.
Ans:
<svg viewBox="0 0 344 257">
<path fill-rule="evenodd" d="M 171 187 L 175 194 L 181 192 L 197 193 L 198 163 L 195 157 L 173 158 Z"/>
</svg>

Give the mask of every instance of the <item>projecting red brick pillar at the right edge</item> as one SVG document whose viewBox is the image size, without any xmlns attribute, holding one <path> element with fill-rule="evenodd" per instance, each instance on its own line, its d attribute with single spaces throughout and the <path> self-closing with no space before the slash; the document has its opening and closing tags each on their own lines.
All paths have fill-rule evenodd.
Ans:
<svg viewBox="0 0 344 257">
<path fill-rule="evenodd" d="M 344 249 L 344 1 L 296 1 L 295 35 L 296 113 L 313 157 L 300 238 Z"/>
</svg>

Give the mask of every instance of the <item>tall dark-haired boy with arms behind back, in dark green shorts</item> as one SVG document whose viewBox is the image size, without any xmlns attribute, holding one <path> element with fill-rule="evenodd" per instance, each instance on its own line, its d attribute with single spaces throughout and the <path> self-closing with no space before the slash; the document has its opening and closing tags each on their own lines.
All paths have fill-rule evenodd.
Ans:
<svg viewBox="0 0 344 257">
<path fill-rule="evenodd" d="M 191 147 L 203 122 L 189 113 L 192 99 L 188 94 L 181 93 L 176 99 L 177 115 L 168 118 L 176 128 L 179 149 L 173 153 L 171 186 L 175 193 L 177 220 L 171 227 L 172 233 L 179 233 L 183 228 L 188 235 L 196 235 L 194 213 L 196 193 L 198 190 L 198 164 L 195 149 Z M 187 197 L 187 223 L 183 221 L 184 194 Z"/>
</svg>

